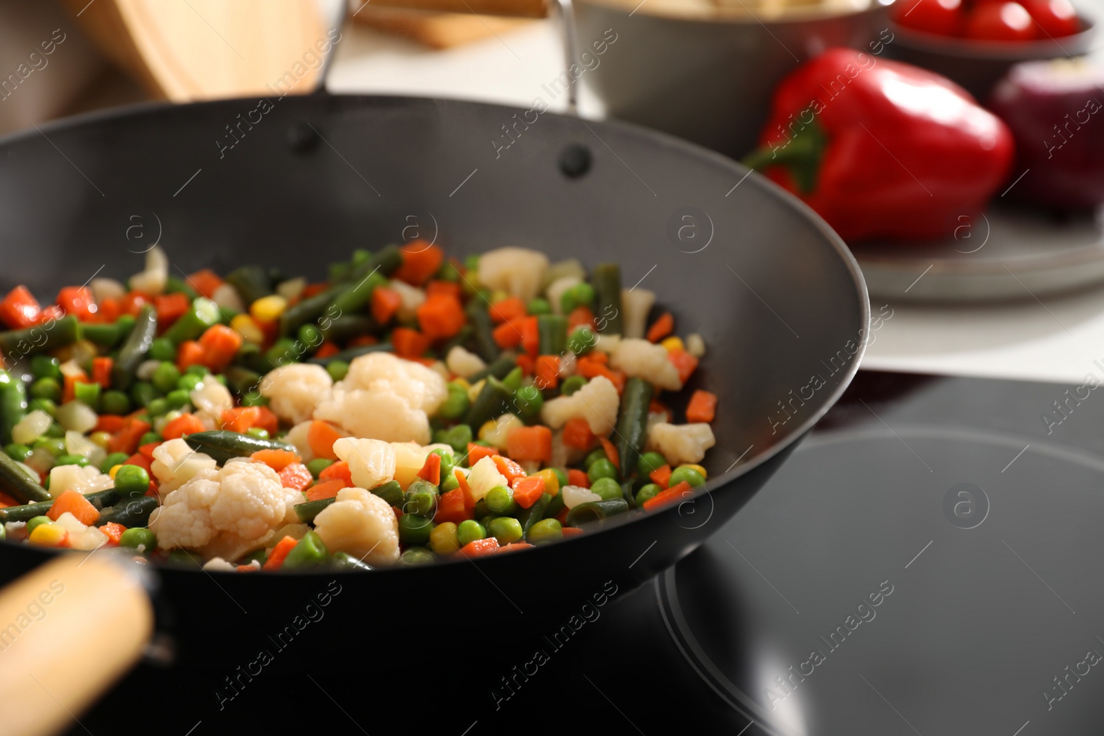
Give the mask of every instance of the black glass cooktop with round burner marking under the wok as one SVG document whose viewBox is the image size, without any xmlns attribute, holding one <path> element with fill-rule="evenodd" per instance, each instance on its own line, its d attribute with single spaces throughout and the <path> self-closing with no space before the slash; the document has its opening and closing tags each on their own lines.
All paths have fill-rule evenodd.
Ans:
<svg viewBox="0 0 1104 736">
<path fill-rule="evenodd" d="M 1069 386 L 860 372 L 744 510 L 652 583 L 596 591 L 512 649 L 473 622 L 466 651 L 433 655 L 426 629 L 426 666 L 386 686 L 386 712 L 349 680 L 332 703 L 289 685 L 235 718 L 279 727 L 309 702 L 308 723 L 337 733 L 1104 733 L 1104 375 L 1090 371 Z M 476 661 L 493 663 L 461 665 Z M 176 730 L 190 721 L 174 714 Z M 212 713 L 195 736 L 223 727 Z"/>
</svg>

